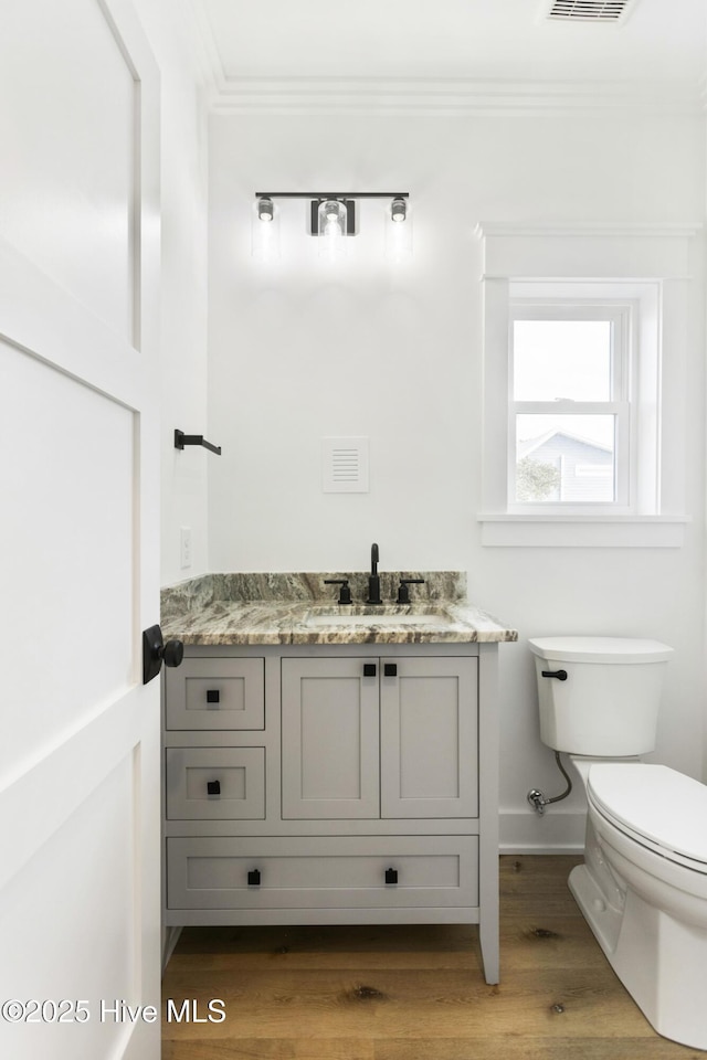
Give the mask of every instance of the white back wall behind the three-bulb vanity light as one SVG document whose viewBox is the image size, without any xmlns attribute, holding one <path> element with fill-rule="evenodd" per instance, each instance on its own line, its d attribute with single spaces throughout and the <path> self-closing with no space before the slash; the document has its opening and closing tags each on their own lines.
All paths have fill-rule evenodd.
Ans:
<svg viewBox="0 0 707 1060">
<path fill-rule="evenodd" d="M 581 841 L 579 796 L 542 819 L 526 805 L 529 787 L 561 787 L 538 739 L 529 636 L 674 645 L 657 756 L 700 772 L 703 294 L 685 390 L 684 548 L 482 548 L 473 230 L 479 220 L 699 220 L 704 187 L 701 123 L 675 115 L 211 118 L 209 427 L 223 446 L 209 466 L 211 569 L 363 570 L 376 540 L 382 569 L 467 571 L 474 602 L 520 633 L 500 648 L 509 846 Z M 305 234 L 304 205 L 289 202 L 283 256 L 263 267 L 250 257 L 250 211 L 266 190 L 409 191 L 414 258 L 383 261 L 382 205 L 369 203 L 355 257 L 330 269 Z M 370 437 L 370 492 L 325 495 L 320 439 L 349 434 Z"/>
</svg>

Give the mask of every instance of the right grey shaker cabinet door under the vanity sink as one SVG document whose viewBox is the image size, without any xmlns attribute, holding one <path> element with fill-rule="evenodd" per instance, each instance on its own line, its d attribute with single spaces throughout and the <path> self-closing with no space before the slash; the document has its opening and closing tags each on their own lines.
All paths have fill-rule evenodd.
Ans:
<svg viewBox="0 0 707 1060">
<path fill-rule="evenodd" d="M 383 817 L 476 817 L 477 660 L 381 661 Z"/>
</svg>

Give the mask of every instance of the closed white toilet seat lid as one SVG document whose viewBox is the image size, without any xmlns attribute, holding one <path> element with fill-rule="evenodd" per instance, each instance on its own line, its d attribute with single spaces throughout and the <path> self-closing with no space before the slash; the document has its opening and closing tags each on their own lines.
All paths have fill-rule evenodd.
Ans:
<svg viewBox="0 0 707 1060">
<path fill-rule="evenodd" d="M 707 872 L 707 786 L 647 763 L 600 763 L 589 771 L 597 809 L 671 860 Z"/>
</svg>

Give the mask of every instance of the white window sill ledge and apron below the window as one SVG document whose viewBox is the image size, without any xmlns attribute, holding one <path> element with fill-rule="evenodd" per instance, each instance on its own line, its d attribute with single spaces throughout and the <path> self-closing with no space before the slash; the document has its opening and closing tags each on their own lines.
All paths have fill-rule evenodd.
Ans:
<svg viewBox="0 0 707 1060">
<path fill-rule="evenodd" d="M 493 548 L 679 549 L 687 516 L 483 512 L 482 544 Z"/>
</svg>

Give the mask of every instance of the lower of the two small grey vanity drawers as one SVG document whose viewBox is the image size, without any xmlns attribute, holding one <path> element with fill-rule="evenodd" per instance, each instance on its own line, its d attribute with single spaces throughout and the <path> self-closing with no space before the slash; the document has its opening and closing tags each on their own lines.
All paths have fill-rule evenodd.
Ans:
<svg viewBox="0 0 707 1060">
<path fill-rule="evenodd" d="M 169 820 L 265 817 L 264 748 L 168 748 Z"/>
</svg>

